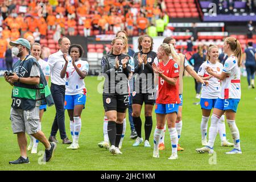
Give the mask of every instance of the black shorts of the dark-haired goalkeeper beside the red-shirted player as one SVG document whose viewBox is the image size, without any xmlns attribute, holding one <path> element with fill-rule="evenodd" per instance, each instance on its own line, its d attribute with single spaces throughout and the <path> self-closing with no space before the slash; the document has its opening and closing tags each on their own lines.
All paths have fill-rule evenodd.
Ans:
<svg viewBox="0 0 256 182">
<path fill-rule="evenodd" d="M 154 105 L 155 104 L 155 95 L 154 93 L 136 93 L 133 92 L 133 104 L 143 105 Z"/>
</svg>

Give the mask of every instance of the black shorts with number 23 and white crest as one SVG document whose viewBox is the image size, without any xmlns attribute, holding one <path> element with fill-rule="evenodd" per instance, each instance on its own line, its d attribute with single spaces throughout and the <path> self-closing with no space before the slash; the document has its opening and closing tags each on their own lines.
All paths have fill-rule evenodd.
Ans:
<svg viewBox="0 0 256 182">
<path fill-rule="evenodd" d="M 129 94 L 103 94 L 103 105 L 105 112 L 116 110 L 118 113 L 125 113 L 129 107 Z"/>
</svg>

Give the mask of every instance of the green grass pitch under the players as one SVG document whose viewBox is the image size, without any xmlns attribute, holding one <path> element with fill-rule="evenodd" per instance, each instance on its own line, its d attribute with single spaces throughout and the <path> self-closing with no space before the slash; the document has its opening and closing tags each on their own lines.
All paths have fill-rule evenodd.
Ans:
<svg viewBox="0 0 256 182">
<path fill-rule="evenodd" d="M 185 151 L 178 152 L 179 159 L 167 160 L 171 155 L 171 142 L 168 131 L 166 132 L 166 150 L 160 151 L 160 158 L 152 158 L 153 135 L 155 129 L 155 113 L 153 111 L 153 129 L 150 137 L 151 148 L 145 148 L 143 144 L 133 147 L 135 140 L 130 139 L 130 125 L 128 114 L 126 116 L 126 135 L 123 141 L 122 155 L 111 155 L 108 150 L 99 148 L 98 142 L 103 140 L 103 118 L 104 111 L 102 96 L 97 92 L 97 85 L 100 83 L 97 77 L 86 77 L 85 83 L 88 90 L 86 106 L 82 112 L 82 130 L 79 139 L 79 150 L 68 150 L 67 144 L 62 144 L 59 132 L 56 137 L 59 140 L 54 158 L 45 165 L 38 163 L 39 155 L 30 154 L 30 164 L 11 166 L 10 160 L 18 159 L 20 156 L 16 135 L 12 133 L 10 118 L 11 86 L 0 78 L 0 169 L 1 170 L 255 170 L 255 89 L 247 89 L 247 81 L 242 77 L 242 99 L 238 106 L 236 122 L 240 130 L 242 155 L 226 155 L 231 147 L 220 147 L 220 137 L 216 138 L 214 151 L 216 155 L 197 154 L 195 149 L 201 147 L 201 108 L 200 105 L 193 105 L 197 102 L 195 98 L 194 80 L 191 77 L 184 78 L 183 94 L 183 129 L 180 144 Z M 144 111 L 142 110 L 142 113 Z M 44 113 L 42 130 L 46 137 L 49 137 L 52 121 L 55 117 L 55 107 L 48 107 Z M 142 125 L 144 116 L 142 114 Z M 65 112 L 65 126 L 69 139 L 69 118 Z M 208 131 L 210 124 L 208 123 Z M 226 124 L 226 136 L 230 142 L 233 139 Z M 144 127 L 142 127 L 144 138 Z M 30 138 L 28 138 L 28 143 Z M 38 151 L 44 151 L 42 143 L 39 143 Z M 216 159 L 216 165 L 209 164 L 209 161 Z"/>
</svg>

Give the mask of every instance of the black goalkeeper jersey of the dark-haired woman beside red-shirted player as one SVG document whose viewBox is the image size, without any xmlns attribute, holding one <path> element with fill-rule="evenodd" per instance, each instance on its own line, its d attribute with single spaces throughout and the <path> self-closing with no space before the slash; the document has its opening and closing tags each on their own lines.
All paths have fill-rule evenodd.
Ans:
<svg viewBox="0 0 256 182">
<path fill-rule="evenodd" d="M 142 64 L 139 67 L 138 64 L 138 53 L 147 55 L 147 64 Z M 142 51 L 136 52 L 134 54 L 134 91 L 138 93 L 152 93 L 154 90 L 154 71 L 152 68 L 152 63 L 158 64 L 158 58 L 156 52 L 150 51 L 148 53 L 143 53 Z"/>
</svg>

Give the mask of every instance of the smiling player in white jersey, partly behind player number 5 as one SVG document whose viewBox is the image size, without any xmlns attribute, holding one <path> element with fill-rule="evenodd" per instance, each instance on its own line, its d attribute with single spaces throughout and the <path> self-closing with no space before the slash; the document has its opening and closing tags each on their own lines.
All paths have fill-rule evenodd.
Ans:
<svg viewBox="0 0 256 182">
<path fill-rule="evenodd" d="M 201 90 L 200 105 L 202 109 L 202 120 L 201 120 L 201 139 L 202 145 L 207 146 L 207 126 L 210 117 L 210 112 L 217 101 L 218 95 L 220 94 L 221 84 L 218 78 L 209 75 L 205 68 L 210 67 L 214 73 L 221 74 L 223 66 L 218 61 L 218 47 L 210 45 L 207 50 L 207 61 L 205 61 L 199 68 L 198 75 L 203 80 L 208 80 L 209 85 L 203 85 Z M 226 140 L 226 129 L 225 129 L 225 116 L 222 115 L 218 121 L 218 132 L 220 133 L 221 146 L 233 147 L 234 144 Z"/>
</svg>

